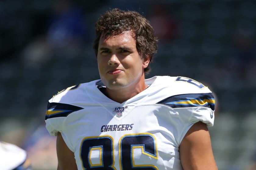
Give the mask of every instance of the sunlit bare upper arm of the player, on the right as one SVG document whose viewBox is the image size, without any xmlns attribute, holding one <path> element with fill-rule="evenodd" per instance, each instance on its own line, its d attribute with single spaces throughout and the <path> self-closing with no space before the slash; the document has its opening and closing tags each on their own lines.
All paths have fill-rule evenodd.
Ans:
<svg viewBox="0 0 256 170">
<path fill-rule="evenodd" d="M 217 170 L 206 124 L 195 123 L 180 144 L 180 161 L 184 170 Z"/>
</svg>

